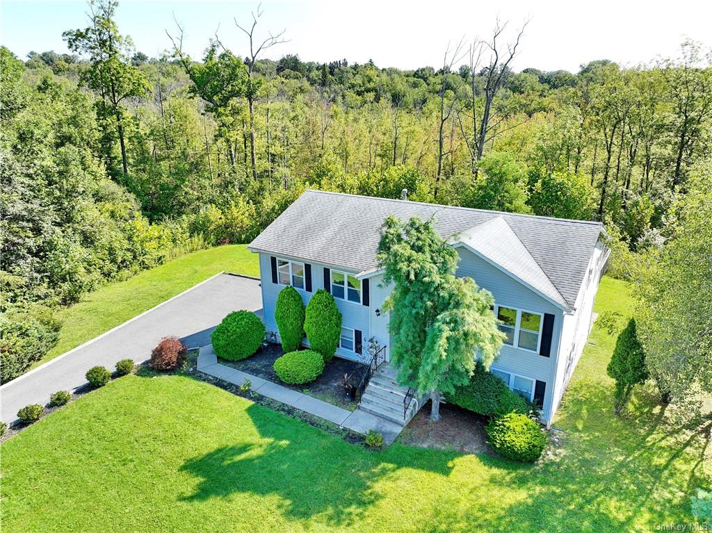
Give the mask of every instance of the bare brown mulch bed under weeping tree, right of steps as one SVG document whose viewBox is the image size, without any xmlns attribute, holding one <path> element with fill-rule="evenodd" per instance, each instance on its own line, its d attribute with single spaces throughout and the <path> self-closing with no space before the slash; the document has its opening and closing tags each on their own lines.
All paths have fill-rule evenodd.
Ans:
<svg viewBox="0 0 712 533">
<path fill-rule="evenodd" d="M 430 419 L 426 403 L 399 436 L 399 442 L 421 448 L 455 449 L 463 453 L 496 455 L 487 445 L 487 418 L 450 403 L 440 404 L 440 420 Z"/>
</svg>

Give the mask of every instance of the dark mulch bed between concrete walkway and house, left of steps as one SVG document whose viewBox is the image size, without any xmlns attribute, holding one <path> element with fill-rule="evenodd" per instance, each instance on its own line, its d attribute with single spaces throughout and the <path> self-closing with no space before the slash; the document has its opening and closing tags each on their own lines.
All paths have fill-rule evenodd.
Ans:
<svg viewBox="0 0 712 533">
<path fill-rule="evenodd" d="M 225 361 L 220 359 L 221 364 L 231 366 L 234 369 L 241 370 L 247 374 L 261 377 L 273 383 L 285 386 L 294 391 L 303 392 L 313 398 L 317 398 L 337 407 L 353 411 L 357 402 L 348 401 L 344 394 L 343 377 L 344 374 L 352 374 L 355 379 L 360 379 L 360 376 L 366 369 L 365 364 L 334 357 L 324 367 L 324 372 L 315 381 L 303 385 L 290 385 L 280 381 L 273 364 L 278 357 L 284 354 L 281 345 L 268 342 L 263 344 L 256 354 L 251 355 L 242 361 Z"/>
</svg>

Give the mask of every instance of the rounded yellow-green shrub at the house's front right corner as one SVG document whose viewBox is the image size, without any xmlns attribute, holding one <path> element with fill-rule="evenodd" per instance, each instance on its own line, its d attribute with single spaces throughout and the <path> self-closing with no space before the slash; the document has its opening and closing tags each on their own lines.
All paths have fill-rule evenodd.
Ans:
<svg viewBox="0 0 712 533">
<path fill-rule="evenodd" d="M 533 463 L 546 446 L 546 435 L 538 423 L 520 413 L 493 418 L 487 426 L 489 443 L 510 459 Z"/>
</svg>

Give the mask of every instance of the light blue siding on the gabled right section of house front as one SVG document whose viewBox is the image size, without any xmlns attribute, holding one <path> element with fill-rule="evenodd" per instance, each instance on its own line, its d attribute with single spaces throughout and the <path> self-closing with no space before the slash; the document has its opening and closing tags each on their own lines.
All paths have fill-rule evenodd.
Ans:
<svg viewBox="0 0 712 533">
<path fill-rule="evenodd" d="M 492 365 L 493 369 L 545 381 L 546 392 L 543 418 L 548 421 L 553 400 L 556 360 L 563 318 L 562 311 L 533 290 L 525 287 L 471 251 L 458 248 L 458 253 L 460 261 L 457 275 L 461 278 L 473 278 L 479 287 L 490 291 L 496 305 L 554 315 L 550 357 L 543 357 L 538 353 L 528 352 L 504 344 L 499 357 Z"/>
</svg>

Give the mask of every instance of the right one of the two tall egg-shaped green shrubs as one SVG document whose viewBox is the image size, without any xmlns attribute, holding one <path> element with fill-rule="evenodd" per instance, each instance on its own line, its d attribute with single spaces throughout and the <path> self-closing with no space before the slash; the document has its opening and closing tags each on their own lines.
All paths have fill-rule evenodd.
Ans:
<svg viewBox="0 0 712 533">
<path fill-rule="evenodd" d="M 304 331 L 310 349 L 328 363 L 334 357 L 341 336 L 341 313 L 334 297 L 323 289 L 314 293 L 304 313 Z"/>
</svg>

